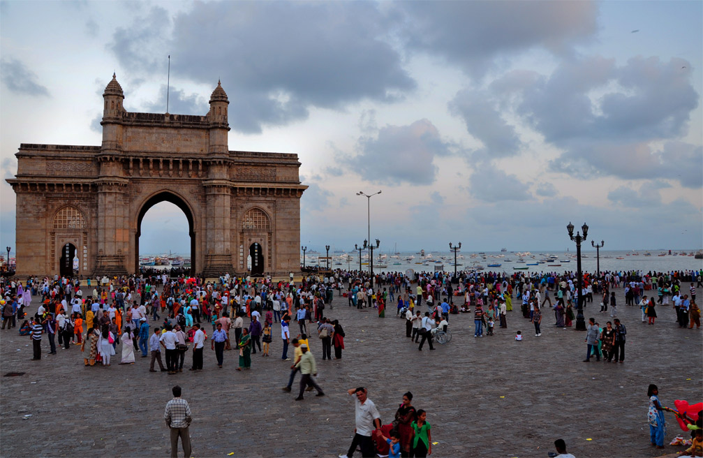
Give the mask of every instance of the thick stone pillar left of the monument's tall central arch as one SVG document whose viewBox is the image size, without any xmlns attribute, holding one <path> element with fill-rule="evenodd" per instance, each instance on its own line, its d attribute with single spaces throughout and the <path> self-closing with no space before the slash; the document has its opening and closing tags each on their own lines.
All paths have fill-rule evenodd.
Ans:
<svg viewBox="0 0 703 458">
<path fill-rule="evenodd" d="M 98 179 L 98 254 L 93 276 L 127 274 L 127 179 Z"/>
</svg>

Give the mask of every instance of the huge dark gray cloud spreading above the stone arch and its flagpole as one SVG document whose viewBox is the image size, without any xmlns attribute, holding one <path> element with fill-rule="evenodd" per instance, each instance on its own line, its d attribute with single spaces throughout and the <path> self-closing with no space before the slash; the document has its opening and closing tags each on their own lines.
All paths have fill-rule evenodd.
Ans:
<svg viewBox="0 0 703 458">
<path fill-rule="evenodd" d="M 165 65 L 153 56 L 178 50 L 172 72 L 199 83 L 221 77 L 231 126 L 260 132 L 304 119 L 310 107 L 392 102 L 413 90 L 401 56 L 382 41 L 387 21 L 375 4 L 362 2 L 206 3 L 172 22 L 153 8 L 148 20 L 117 30 L 110 49 L 141 73 Z"/>
</svg>

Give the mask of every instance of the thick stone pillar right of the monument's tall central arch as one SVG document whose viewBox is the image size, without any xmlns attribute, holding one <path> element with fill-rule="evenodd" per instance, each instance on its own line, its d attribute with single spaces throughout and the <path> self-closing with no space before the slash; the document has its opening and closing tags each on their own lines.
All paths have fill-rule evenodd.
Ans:
<svg viewBox="0 0 703 458">
<path fill-rule="evenodd" d="M 227 180 L 210 179 L 205 186 L 205 277 L 233 272 L 230 245 L 231 187 Z"/>
</svg>

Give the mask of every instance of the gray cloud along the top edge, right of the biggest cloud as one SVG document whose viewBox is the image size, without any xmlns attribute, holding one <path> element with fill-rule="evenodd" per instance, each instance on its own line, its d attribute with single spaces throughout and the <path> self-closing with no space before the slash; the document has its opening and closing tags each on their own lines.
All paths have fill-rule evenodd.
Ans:
<svg viewBox="0 0 703 458">
<path fill-rule="evenodd" d="M 496 57 L 535 47 L 569 53 L 596 31 L 598 4 L 584 1 L 405 1 L 401 36 L 411 49 L 483 75 Z"/>
</svg>

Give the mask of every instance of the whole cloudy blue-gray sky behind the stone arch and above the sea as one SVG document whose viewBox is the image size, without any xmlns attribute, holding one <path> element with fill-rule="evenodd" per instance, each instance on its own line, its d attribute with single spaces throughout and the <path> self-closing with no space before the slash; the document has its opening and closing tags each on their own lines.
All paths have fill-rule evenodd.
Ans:
<svg viewBox="0 0 703 458">
<path fill-rule="evenodd" d="M 113 71 L 127 110 L 164 113 L 170 54 L 171 113 L 205 114 L 221 79 L 231 150 L 299 155 L 310 248 L 361 243 L 356 192 L 378 190 L 387 249 L 563 250 L 569 221 L 611 249 L 701 248 L 702 18 L 700 1 L 1 1 L 1 172 L 22 142 L 99 145 Z M 157 205 L 142 237 L 186 252 L 186 217 Z"/>
</svg>

